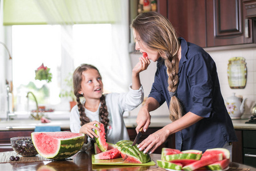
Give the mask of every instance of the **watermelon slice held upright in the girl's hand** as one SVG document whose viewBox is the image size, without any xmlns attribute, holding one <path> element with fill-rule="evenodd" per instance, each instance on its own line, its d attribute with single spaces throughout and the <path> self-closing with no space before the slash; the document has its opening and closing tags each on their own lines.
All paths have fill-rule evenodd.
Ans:
<svg viewBox="0 0 256 171">
<path fill-rule="evenodd" d="M 101 152 L 105 152 L 108 150 L 108 143 L 106 142 L 106 133 L 105 133 L 105 128 L 104 124 L 100 123 L 100 125 L 96 124 L 96 127 L 100 128 L 100 131 L 97 131 L 94 129 L 94 132 L 98 136 L 98 138 L 95 137 L 95 141 L 97 143 L 97 146 L 101 150 Z"/>
</svg>

